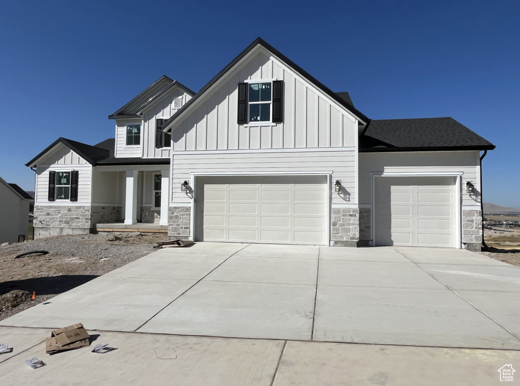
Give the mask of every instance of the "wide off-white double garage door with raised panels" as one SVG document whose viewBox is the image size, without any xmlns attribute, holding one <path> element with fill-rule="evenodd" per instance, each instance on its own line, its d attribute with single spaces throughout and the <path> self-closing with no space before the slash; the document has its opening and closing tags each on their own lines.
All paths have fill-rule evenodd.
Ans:
<svg viewBox="0 0 520 386">
<path fill-rule="evenodd" d="M 195 237 L 327 245 L 326 176 L 196 178 Z"/>
</svg>

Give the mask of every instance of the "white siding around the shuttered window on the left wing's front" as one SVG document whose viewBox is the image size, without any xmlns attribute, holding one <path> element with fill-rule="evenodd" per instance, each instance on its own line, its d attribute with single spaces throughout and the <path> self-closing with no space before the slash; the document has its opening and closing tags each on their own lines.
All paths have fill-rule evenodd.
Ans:
<svg viewBox="0 0 520 386">
<path fill-rule="evenodd" d="M 36 186 L 34 197 L 35 204 L 59 204 L 60 201 L 48 200 L 49 172 L 78 171 L 77 203 L 90 204 L 90 186 L 92 185 L 92 165 L 80 157 L 76 152 L 67 146 L 60 145 L 55 151 L 51 152 L 45 159 L 38 162 L 36 167 Z M 70 205 L 70 201 L 63 201 L 63 204 Z"/>
</svg>

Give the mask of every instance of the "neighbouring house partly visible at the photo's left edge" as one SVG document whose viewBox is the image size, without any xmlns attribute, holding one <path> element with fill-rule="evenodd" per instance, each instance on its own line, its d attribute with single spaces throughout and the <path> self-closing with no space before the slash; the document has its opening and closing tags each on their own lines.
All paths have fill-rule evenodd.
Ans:
<svg viewBox="0 0 520 386">
<path fill-rule="evenodd" d="M 33 198 L 16 184 L 0 178 L 0 243 L 28 239 L 29 203 Z"/>
</svg>

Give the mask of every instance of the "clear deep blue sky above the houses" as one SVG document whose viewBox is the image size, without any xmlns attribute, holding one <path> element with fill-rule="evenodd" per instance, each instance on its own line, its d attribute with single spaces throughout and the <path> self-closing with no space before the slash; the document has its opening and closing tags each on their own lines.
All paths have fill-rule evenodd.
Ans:
<svg viewBox="0 0 520 386">
<path fill-rule="evenodd" d="M 82 4 L 80 4 L 82 3 Z M 371 119 L 453 117 L 497 148 L 484 201 L 520 208 L 517 1 L 23 1 L 0 10 L 0 176 L 58 137 L 94 145 L 165 74 L 194 91 L 257 36 Z"/>
</svg>

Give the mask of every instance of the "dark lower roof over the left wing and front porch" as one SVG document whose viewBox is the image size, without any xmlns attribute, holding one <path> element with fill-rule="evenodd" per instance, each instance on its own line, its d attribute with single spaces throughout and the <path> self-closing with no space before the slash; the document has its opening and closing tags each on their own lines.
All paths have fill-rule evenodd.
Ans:
<svg viewBox="0 0 520 386">
<path fill-rule="evenodd" d="M 25 166 L 34 166 L 36 161 L 44 157 L 49 151 L 53 150 L 58 144 L 63 144 L 75 151 L 77 155 L 92 165 L 149 165 L 170 163 L 170 158 L 115 158 L 114 157 L 114 138 L 105 139 L 97 145 L 87 145 L 67 138 L 58 138 L 47 146 L 40 154 L 34 157 Z"/>
</svg>

